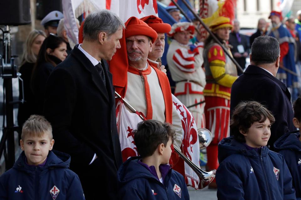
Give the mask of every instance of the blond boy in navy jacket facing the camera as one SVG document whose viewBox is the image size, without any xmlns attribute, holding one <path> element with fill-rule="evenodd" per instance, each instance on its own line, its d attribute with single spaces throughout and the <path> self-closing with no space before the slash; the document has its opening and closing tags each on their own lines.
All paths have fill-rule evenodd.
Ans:
<svg viewBox="0 0 301 200">
<path fill-rule="evenodd" d="M 23 152 L 13 168 L 0 176 L 1 200 L 85 199 L 78 176 L 68 169 L 70 156 L 52 150 L 52 128 L 45 117 L 30 116 L 21 138 Z"/>
</svg>

